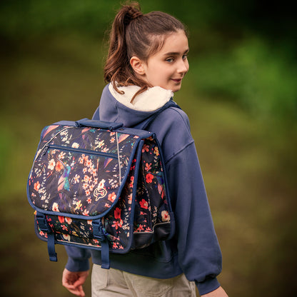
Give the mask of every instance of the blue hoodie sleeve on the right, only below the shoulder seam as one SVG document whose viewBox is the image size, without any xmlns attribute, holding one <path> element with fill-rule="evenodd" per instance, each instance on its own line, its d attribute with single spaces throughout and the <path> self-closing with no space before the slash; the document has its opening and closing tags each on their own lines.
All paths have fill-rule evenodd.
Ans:
<svg viewBox="0 0 297 297">
<path fill-rule="evenodd" d="M 221 251 L 213 228 L 201 169 L 192 143 L 167 163 L 171 201 L 176 218 L 178 261 L 199 293 L 218 288 Z"/>
</svg>

